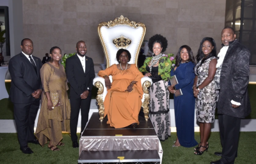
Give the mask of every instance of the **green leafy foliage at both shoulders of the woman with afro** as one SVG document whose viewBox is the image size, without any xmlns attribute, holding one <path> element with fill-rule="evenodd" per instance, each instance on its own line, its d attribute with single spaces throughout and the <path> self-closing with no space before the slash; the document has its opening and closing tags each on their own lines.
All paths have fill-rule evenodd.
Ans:
<svg viewBox="0 0 256 164">
<path fill-rule="evenodd" d="M 152 57 L 148 57 L 145 61 L 143 66 L 139 69 L 141 72 L 146 73 L 146 67 L 150 63 Z M 167 81 L 170 78 L 170 71 L 172 70 L 173 66 L 175 65 L 175 58 L 173 54 L 163 54 L 163 57 L 159 60 L 159 67 L 158 67 L 158 75 L 161 75 L 162 79 Z"/>
</svg>

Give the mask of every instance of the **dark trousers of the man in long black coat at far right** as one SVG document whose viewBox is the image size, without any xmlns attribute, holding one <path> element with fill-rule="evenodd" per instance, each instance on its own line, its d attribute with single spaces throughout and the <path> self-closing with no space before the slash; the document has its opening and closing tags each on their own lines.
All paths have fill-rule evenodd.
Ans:
<svg viewBox="0 0 256 164">
<path fill-rule="evenodd" d="M 221 161 L 232 164 L 237 156 L 241 119 L 224 114 L 218 118 L 222 145 Z"/>
</svg>

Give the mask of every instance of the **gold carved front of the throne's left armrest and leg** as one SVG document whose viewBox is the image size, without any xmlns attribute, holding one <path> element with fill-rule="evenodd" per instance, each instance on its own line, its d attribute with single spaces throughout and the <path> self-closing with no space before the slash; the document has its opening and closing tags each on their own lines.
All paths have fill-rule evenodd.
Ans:
<svg viewBox="0 0 256 164">
<path fill-rule="evenodd" d="M 98 93 L 97 93 L 97 96 L 96 96 L 96 101 L 99 105 L 99 115 L 100 115 L 100 123 L 102 123 L 103 119 L 104 119 L 104 104 L 103 104 L 103 90 L 104 90 L 104 87 L 103 87 L 103 84 L 101 82 L 95 82 L 94 84 L 95 87 L 97 87 L 99 90 L 98 90 Z"/>
</svg>

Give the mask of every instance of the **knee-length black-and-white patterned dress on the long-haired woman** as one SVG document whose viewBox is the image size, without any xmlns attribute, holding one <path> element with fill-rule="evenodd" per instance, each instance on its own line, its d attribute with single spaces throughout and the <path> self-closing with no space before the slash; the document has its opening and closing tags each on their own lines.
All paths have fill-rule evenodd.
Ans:
<svg viewBox="0 0 256 164">
<path fill-rule="evenodd" d="M 212 59 L 216 57 L 210 57 L 205 60 L 204 63 L 199 61 L 195 66 L 195 73 L 198 76 L 196 86 L 200 86 L 208 77 L 209 64 Z M 200 89 L 200 92 L 196 98 L 196 120 L 200 123 L 213 123 L 215 117 L 216 101 L 218 100 L 218 91 L 216 91 L 215 80 L 212 80 L 210 84 Z"/>
</svg>

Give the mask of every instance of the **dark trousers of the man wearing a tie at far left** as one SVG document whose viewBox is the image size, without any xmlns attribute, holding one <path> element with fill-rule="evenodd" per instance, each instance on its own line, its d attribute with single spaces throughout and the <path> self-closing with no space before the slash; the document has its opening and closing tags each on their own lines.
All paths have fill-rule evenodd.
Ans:
<svg viewBox="0 0 256 164">
<path fill-rule="evenodd" d="M 34 140 L 36 114 L 40 101 L 31 103 L 13 103 L 14 119 L 17 128 L 20 147 L 28 145 L 28 140 Z"/>
</svg>

